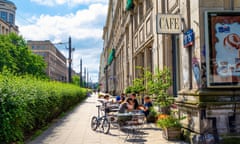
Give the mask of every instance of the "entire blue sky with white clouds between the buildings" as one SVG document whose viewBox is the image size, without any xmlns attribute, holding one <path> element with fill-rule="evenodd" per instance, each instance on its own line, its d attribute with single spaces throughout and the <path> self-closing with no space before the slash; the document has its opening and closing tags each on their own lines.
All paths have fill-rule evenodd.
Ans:
<svg viewBox="0 0 240 144">
<path fill-rule="evenodd" d="M 80 71 L 80 59 L 91 80 L 98 81 L 102 32 L 108 0 L 10 0 L 17 6 L 16 25 L 26 40 L 67 42 L 72 38 L 72 68 Z M 56 47 L 68 57 L 67 45 Z"/>
</svg>

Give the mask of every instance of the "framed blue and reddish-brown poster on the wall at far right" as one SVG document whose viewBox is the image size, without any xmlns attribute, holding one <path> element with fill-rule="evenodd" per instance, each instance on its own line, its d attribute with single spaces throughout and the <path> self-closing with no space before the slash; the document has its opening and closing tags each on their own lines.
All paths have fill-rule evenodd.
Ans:
<svg viewBox="0 0 240 144">
<path fill-rule="evenodd" d="M 206 11 L 208 87 L 240 87 L 240 12 Z"/>
</svg>

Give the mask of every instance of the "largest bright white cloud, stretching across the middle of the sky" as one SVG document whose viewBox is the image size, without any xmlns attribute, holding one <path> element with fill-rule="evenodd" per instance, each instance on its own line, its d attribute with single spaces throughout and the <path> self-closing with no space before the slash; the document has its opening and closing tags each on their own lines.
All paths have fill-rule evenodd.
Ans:
<svg viewBox="0 0 240 144">
<path fill-rule="evenodd" d="M 89 9 L 79 10 L 75 14 L 65 16 L 41 15 L 33 16 L 30 25 L 19 25 L 20 33 L 31 40 L 46 40 L 54 37 L 53 41 L 72 36 L 76 39 L 101 39 L 102 26 L 94 25 L 103 21 L 107 13 L 107 5 L 93 4 Z M 61 39 L 62 38 L 62 39 Z"/>
</svg>

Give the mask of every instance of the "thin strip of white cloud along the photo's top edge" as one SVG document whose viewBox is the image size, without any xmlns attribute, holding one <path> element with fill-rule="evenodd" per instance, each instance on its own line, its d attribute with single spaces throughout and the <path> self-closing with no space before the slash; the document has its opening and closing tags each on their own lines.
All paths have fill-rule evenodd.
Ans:
<svg viewBox="0 0 240 144">
<path fill-rule="evenodd" d="M 67 4 L 68 6 L 75 6 L 79 4 L 107 3 L 107 0 L 31 0 L 31 1 L 46 6 L 56 6 L 64 4 Z"/>
</svg>

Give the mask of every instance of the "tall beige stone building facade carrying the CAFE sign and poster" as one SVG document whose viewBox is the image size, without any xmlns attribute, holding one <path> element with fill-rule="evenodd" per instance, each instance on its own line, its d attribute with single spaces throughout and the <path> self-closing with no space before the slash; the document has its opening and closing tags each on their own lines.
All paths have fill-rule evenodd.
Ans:
<svg viewBox="0 0 240 144">
<path fill-rule="evenodd" d="M 239 11 L 238 0 L 109 0 L 101 90 L 120 94 L 136 67 L 167 66 L 187 130 L 239 134 Z"/>
</svg>

